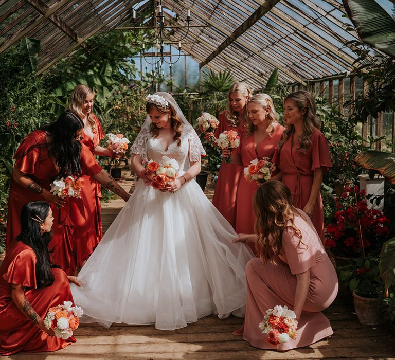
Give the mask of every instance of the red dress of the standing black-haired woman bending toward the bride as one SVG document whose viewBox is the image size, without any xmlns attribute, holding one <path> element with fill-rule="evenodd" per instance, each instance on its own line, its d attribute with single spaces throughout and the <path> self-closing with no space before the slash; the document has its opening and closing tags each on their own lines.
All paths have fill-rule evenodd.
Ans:
<svg viewBox="0 0 395 360">
<path fill-rule="evenodd" d="M 34 148 L 31 148 L 34 146 Z M 53 177 L 58 175 L 53 158 L 49 155 L 45 131 L 36 130 L 26 136 L 14 155 L 15 166 L 34 182 L 50 191 Z M 89 149 L 81 147 L 81 171 L 83 174 L 96 175 L 102 168 Z M 73 221 L 70 217 L 70 198 L 66 198 L 60 209 L 51 204 L 53 211 L 53 236 L 49 248 L 53 248 L 52 262 L 62 267 L 67 274 L 76 271 L 73 258 Z M 21 233 L 21 210 L 29 201 L 43 201 L 43 197 L 15 182 L 11 177 L 8 195 L 6 250 Z"/>
</svg>

